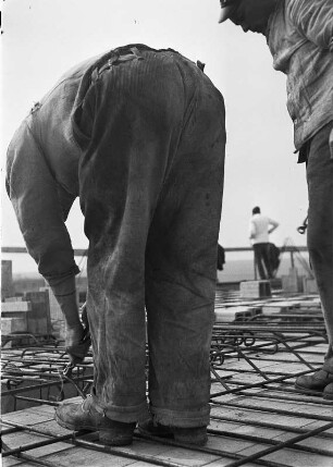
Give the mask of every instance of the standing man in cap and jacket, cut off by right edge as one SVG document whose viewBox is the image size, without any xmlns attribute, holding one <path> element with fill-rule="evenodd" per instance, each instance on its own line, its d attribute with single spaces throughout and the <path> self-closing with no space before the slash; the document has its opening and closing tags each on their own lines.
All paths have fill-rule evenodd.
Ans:
<svg viewBox="0 0 333 467">
<path fill-rule="evenodd" d="M 266 36 L 273 66 L 287 75 L 298 162 L 307 164 L 308 249 L 325 320 L 322 368 L 296 388 L 333 400 L 333 2 L 221 0 L 220 23 Z"/>
</svg>

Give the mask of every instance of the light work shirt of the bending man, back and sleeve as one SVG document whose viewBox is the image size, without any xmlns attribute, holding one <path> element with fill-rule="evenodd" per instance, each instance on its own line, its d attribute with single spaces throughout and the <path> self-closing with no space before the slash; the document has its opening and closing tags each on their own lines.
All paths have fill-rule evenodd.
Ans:
<svg viewBox="0 0 333 467">
<path fill-rule="evenodd" d="M 32 109 L 8 149 L 7 189 L 28 253 L 50 285 L 78 272 L 64 223 L 78 196 L 82 155 L 71 116 L 82 77 L 96 60 L 61 77 Z"/>
</svg>

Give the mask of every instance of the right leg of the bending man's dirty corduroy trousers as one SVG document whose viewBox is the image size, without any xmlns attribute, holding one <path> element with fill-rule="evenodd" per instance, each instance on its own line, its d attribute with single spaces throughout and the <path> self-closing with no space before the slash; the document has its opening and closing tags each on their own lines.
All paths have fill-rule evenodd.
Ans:
<svg viewBox="0 0 333 467">
<path fill-rule="evenodd" d="M 225 144 L 223 102 L 212 88 L 199 96 L 188 127 L 163 186 L 146 253 L 150 409 L 156 421 L 176 427 L 209 422 Z"/>
</svg>

